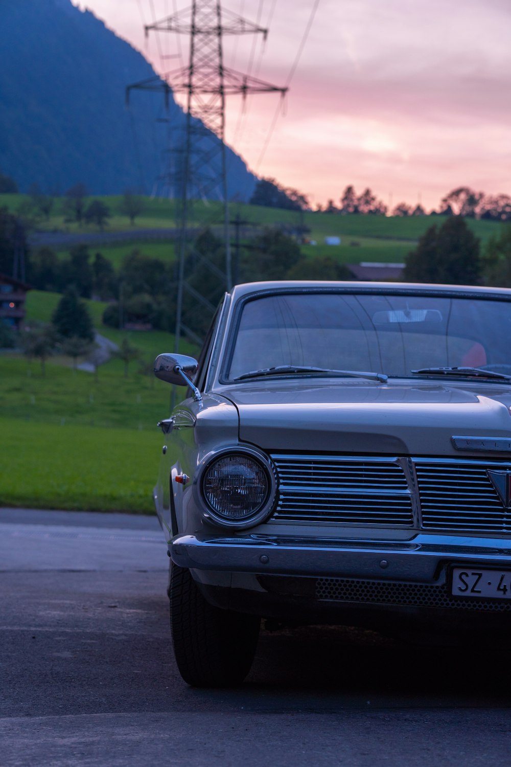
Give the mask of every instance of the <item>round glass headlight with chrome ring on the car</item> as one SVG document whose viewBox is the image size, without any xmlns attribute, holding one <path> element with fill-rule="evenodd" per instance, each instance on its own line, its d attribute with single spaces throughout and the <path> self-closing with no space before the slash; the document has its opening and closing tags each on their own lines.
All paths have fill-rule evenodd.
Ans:
<svg viewBox="0 0 511 767">
<path fill-rule="evenodd" d="M 275 484 L 270 465 L 255 451 L 233 451 L 207 463 L 201 476 L 201 495 L 208 515 L 216 522 L 250 527 L 272 509 Z"/>
</svg>

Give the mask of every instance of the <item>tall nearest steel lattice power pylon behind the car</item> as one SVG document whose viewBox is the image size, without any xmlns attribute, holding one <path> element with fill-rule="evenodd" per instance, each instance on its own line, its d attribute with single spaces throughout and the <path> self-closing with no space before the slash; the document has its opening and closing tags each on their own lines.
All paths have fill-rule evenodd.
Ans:
<svg viewBox="0 0 511 767">
<path fill-rule="evenodd" d="M 171 92 L 187 94 L 185 139 L 178 147 L 175 180 L 179 185 L 179 285 L 175 321 L 175 351 L 179 351 L 182 332 L 193 341 L 201 339 L 182 321 L 183 293 L 188 291 L 195 301 L 203 304 L 211 313 L 215 307 L 185 279 L 185 257 L 190 249 L 192 199 L 214 199 L 223 202 L 223 230 L 225 243 L 225 272 L 221 274 L 226 288 L 232 286 L 231 245 L 229 237 L 228 173 L 226 166 L 225 97 L 247 94 L 278 92 L 282 96 L 287 87 L 277 87 L 224 66 L 222 38 L 224 35 L 267 36 L 267 29 L 253 24 L 227 9 L 221 8 L 221 0 L 192 0 L 187 8 L 145 26 L 149 31 L 173 32 L 190 36 L 188 66 L 167 74 L 150 77 L 129 85 L 127 95 L 133 90 L 159 91 L 169 105 Z M 188 248 L 187 248 L 188 246 Z M 197 263 L 208 268 L 218 277 L 216 267 L 203 254 L 197 255 Z"/>
</svg>

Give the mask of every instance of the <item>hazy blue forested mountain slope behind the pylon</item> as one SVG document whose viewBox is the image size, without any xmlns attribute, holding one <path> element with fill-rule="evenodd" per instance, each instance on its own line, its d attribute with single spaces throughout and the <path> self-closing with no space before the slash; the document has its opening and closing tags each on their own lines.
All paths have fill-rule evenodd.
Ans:
<svg viewBox="0 0 511 767">
<path fill-rule="evenodd" d="M 126 85 L 154 74 L 142 54 L 70 0 L 2 0 L 0 50 L 0 171 L 21 191 L 152 193 L 168 125 L 156 122 L 159 94 L 137 91 L 126 109 Z M 172 100 L 168 117 L 177 140 L 185 117 Z M 229 196 L 248 199 L 254 176 L 230 155 Z"/>
</svg>

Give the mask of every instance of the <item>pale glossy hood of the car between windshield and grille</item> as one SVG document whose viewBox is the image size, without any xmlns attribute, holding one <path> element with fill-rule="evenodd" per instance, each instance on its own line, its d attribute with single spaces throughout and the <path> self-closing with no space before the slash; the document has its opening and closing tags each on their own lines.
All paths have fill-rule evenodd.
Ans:
<svg viewBox="0 0 511 767">
<path fill-rule="evenodd" d="M 460 456 L 453 436 L 511 439 L 509 386 L 296 379 L 268 384 L 228 387 L 222 395 L 237 407 L 240 439 L 270 451 Z"/>
</svg>

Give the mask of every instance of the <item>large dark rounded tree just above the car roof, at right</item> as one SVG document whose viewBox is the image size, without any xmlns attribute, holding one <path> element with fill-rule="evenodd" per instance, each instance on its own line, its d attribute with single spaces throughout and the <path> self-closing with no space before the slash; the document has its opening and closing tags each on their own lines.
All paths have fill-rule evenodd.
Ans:
<svg viewBox="0 0 511 767">
<path fill-rule="evenodd" d="M 450 216 L 440 229 L 427 229 L 405 264 L 406 281 L 477 285 L 481 271 L 479 240 L 464 219 Z"/>
</svg>

